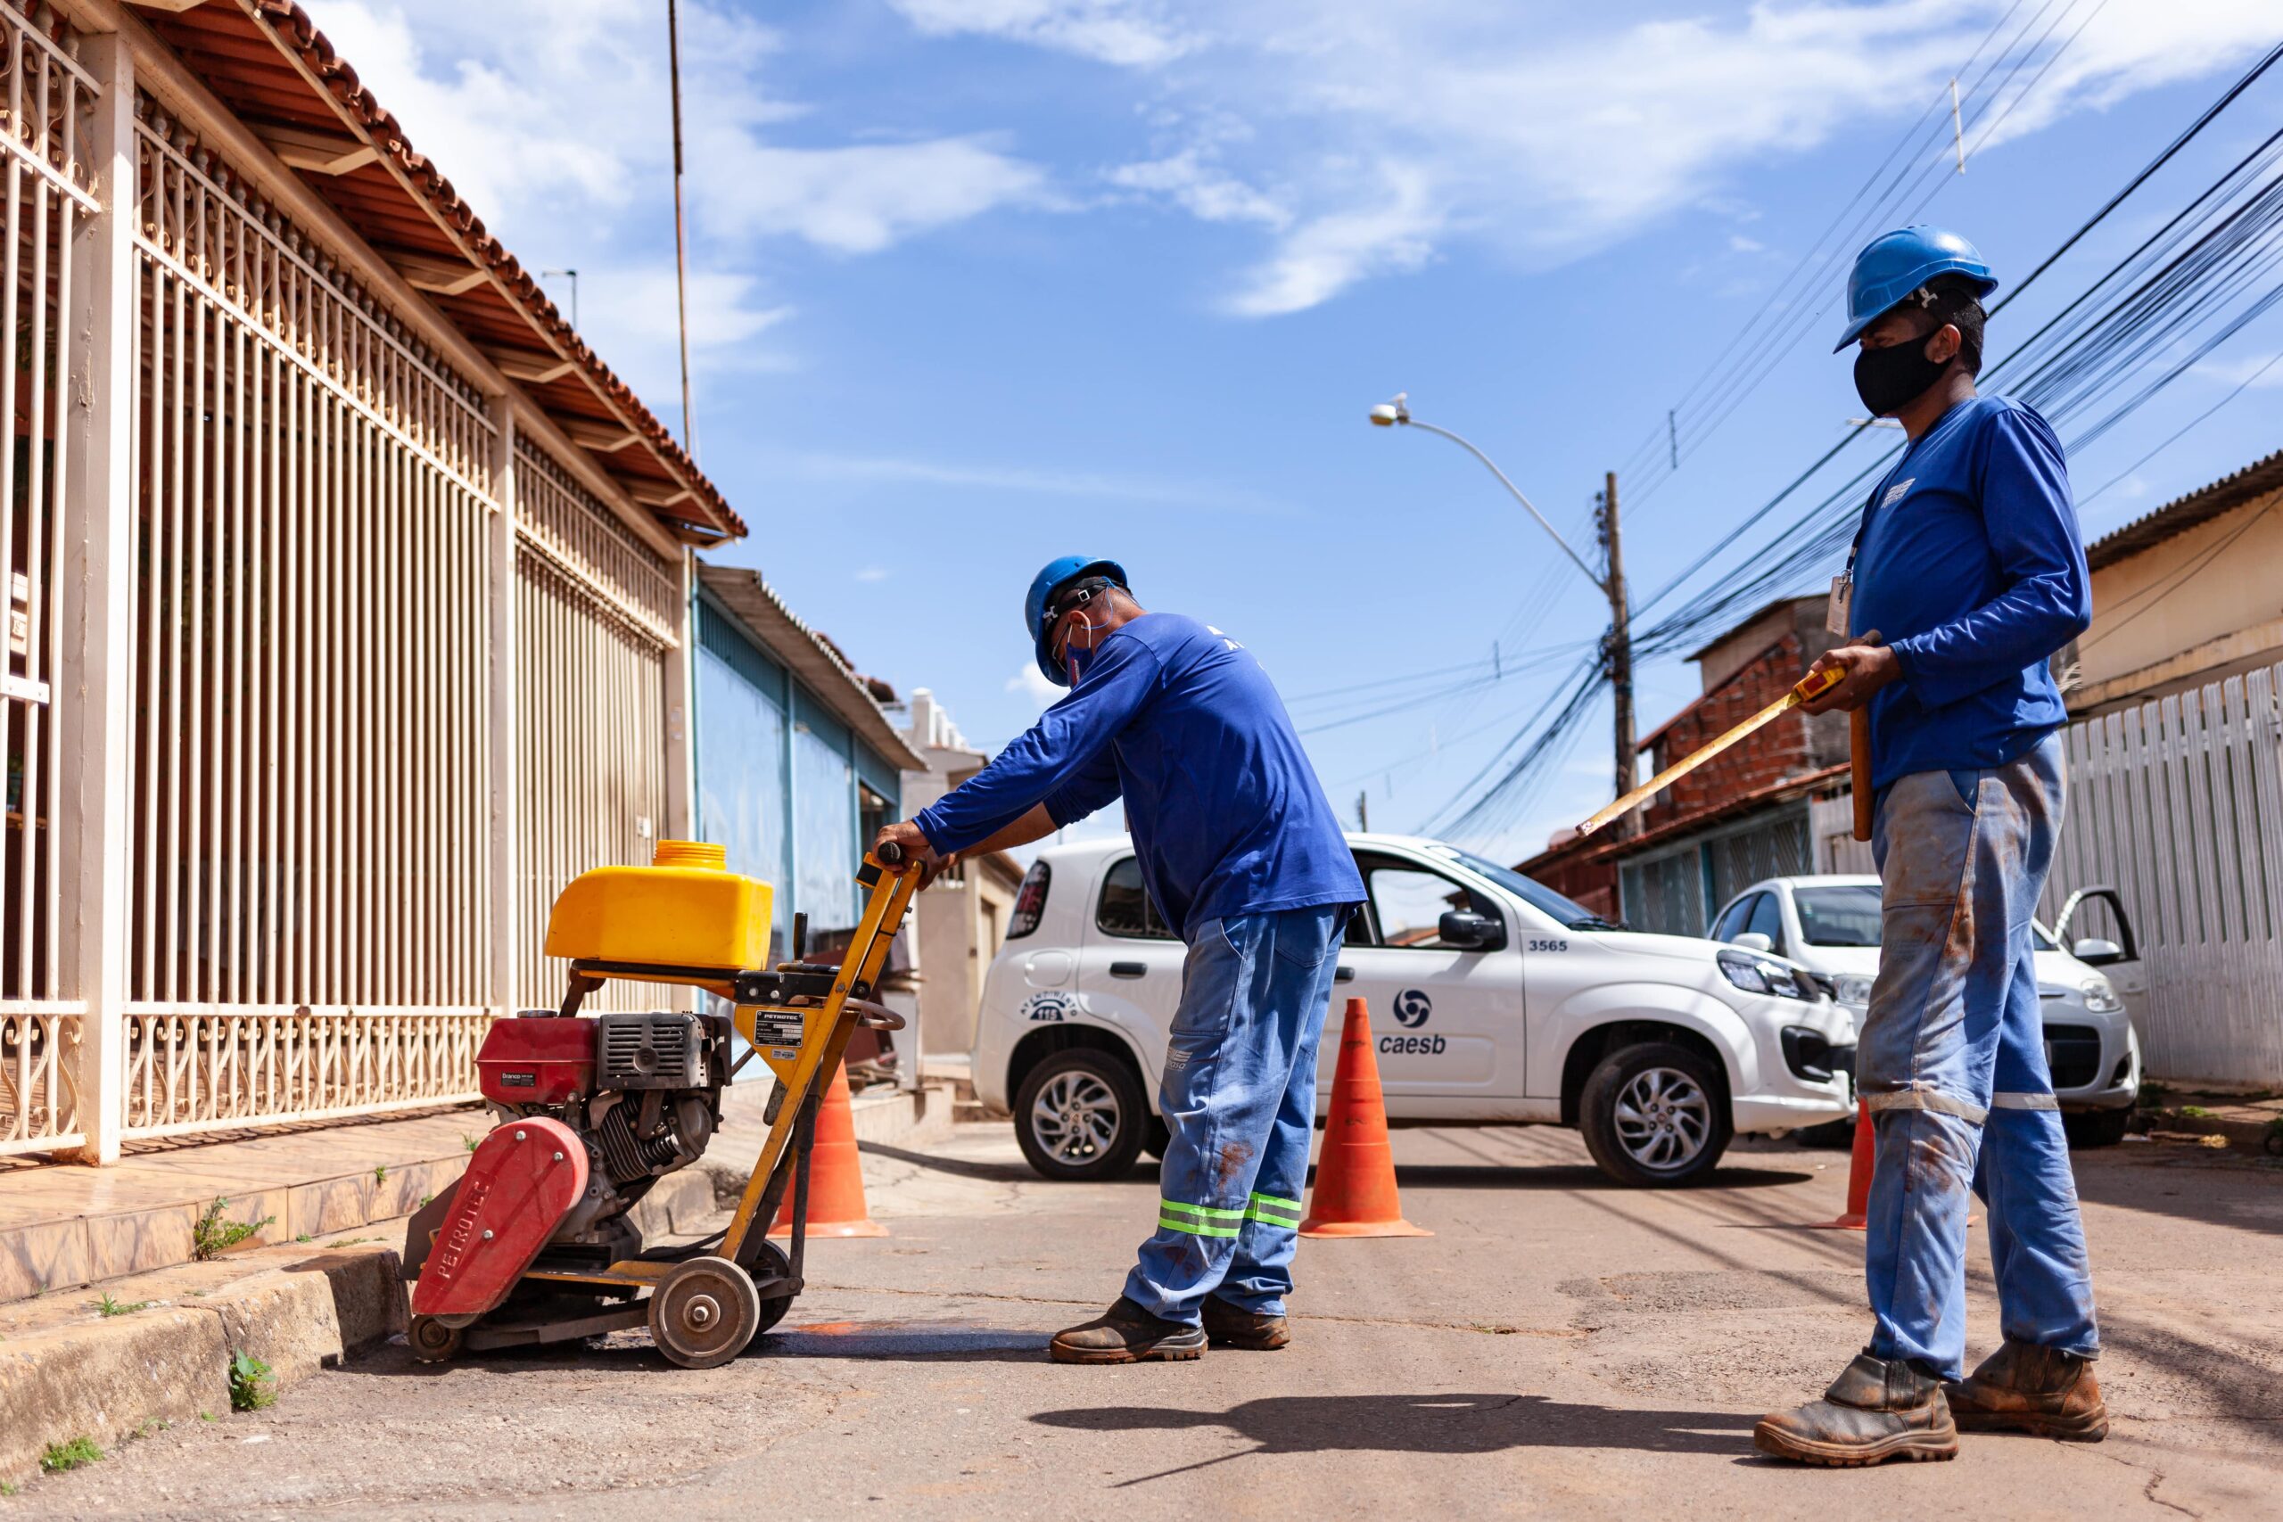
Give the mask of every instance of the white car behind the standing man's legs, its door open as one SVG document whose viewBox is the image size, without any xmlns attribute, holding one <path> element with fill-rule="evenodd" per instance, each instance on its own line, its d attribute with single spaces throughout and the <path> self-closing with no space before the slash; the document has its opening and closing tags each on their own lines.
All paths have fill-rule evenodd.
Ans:
<svg viewBox="0 0 2283 1522">
<path fill-rule="evenodd" d="M 2105 894 L 2125 926 L 2114 890 Z M 2080 899 L 2071 899 L 2064 922 Z M 2139 1038 L 2125 1002 L 2100 965 L 2135 961 L 2114 940 L 2080 940 L 2064 952 L 2043 924 L 2036 936 L 2036 993 L 2046 1020 L 2046 1061 L 2062 1123 L 2078 1145 L 2123 1141 L 2125 1118 L 2139 1095 Z M 2130 929 L 2123 929 L 2130 940 Z M 1879 879 L 1772 876 L 1728 899 L 1712 915 L 1712 940 L 1749 952 L 1774 952 L 1829 979 L 1840 1009 L 1861 1020 L 1870 981 L 1879 972 Z M 2087 961 L 2091 958 L 2091 961 Z M 2094 965 L 2100 963 L 2100 965 Z"/>
</svg>

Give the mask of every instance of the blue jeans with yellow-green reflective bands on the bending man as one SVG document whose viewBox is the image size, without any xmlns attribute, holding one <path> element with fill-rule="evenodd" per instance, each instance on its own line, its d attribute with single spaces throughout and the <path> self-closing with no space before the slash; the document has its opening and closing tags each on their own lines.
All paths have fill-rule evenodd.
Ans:
<svg viewBox="0 0 2283 1522">
<path fill-rule="evenodd" d="M 1157 1234 L 1126 1298 L 1196 1323 L 1208 1294 L 1283 1314 L 1315 1136 L 1315 1052 L 1345 906 L 1196 926 L 1157 1104 L 1171 1136 Z"/>
</svg>

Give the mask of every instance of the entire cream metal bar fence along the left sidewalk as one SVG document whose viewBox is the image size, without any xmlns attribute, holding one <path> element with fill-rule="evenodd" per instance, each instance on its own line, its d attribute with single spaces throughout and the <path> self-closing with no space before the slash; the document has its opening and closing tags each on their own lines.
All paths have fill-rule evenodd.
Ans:
<svg viewBox="0 0 2283 1522">
<path fill-rule="evenodd" d="M 473 1095 L 680 808 L 671 552 L 146 64 L 0 0 L 0 1155 Z"/>
</svg>

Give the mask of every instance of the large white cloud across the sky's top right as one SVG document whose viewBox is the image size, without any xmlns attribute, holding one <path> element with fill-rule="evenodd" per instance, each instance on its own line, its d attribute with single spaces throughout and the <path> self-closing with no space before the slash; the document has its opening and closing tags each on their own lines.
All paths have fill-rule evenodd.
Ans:
<svg viewBox="0 0 2283 1522">
<path fill-rule="evenodd" d="M 1110 178 L 1199 219 L 1258 224 L 1267 249 L 1224 297 L 1256 317 L 1420 269 L 1454 242 L 1548 267 L 1683 208 L 1731 214 L 1737 167 L 1840 130 L 1899 130 L 2000 21 L 2000 43 L 2023 34 L 2034 50 L 1988 75 L 1986 100 L 1979 64 L 1968 73 L 1977 151 L 2210 73 L 2274 32 L 2274 0 L 2107 0 L 2057 11 L 2050 32 L 2023 32 L 2011 0 L 1758 0 L 1646 21 L 1477 0 L 895 2 L 929 34 L 1132 64 L 1157 141 Z M 1084 48 L 1080 23 L 1178 46 Z"/>
</svg>

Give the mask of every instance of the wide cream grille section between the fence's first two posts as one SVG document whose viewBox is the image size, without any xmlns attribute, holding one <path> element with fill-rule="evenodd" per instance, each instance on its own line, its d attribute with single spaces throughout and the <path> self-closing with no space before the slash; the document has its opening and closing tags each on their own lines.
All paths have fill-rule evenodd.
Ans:
<svg viewBox="0 0 2283 1522">
<path fill-rule="evenodd" d="M 137 110 L 126 1127 L 475 1088 L 482 395 Z"/>
</svg>

